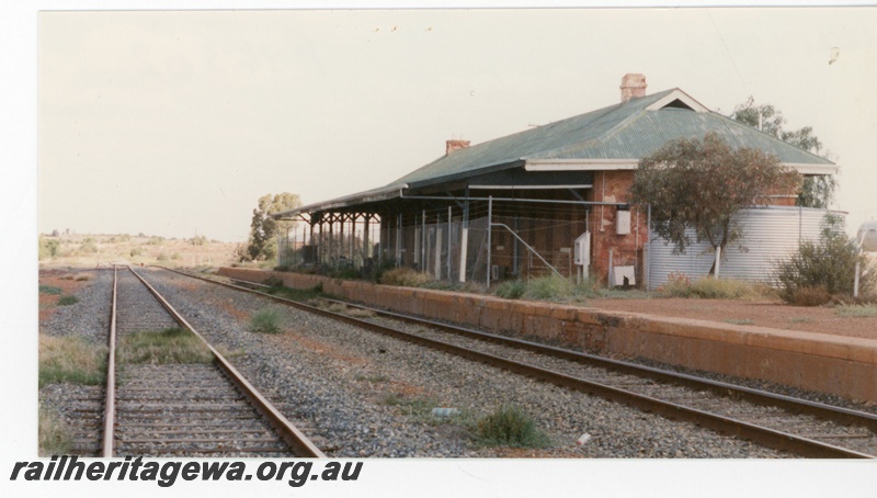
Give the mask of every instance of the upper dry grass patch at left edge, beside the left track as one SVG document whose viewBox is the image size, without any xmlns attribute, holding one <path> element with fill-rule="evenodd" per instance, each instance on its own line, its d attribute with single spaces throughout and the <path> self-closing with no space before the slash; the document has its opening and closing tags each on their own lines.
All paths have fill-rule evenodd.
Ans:
<svg viewBox="0 0 877 498">
<path fill-rule="evenodd" d="M 39 387 L 53 382 L 100 385 L 105 371 L 105 346 L 80 337 L 39 335 Z"/>
</svg>

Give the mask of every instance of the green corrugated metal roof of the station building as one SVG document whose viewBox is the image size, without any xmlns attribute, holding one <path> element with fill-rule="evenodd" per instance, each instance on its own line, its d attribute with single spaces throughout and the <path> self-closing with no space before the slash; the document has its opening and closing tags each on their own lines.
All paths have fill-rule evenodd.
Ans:
<svg viewBox="0 0 877 498">
<path fill-rule="evenodd" d="M 458 177 L 480 174 L 521 160 L 536 159 L 639 159 L 668 140 L 703 137 L 715 132 L 736 148 L 759 148 L 774 154 L 781 162 L 832 165 L 831 161 L 801 150 L 714 112 L 650 105 L 676 89 L 631 99 L 527 129 L 471 147 L 456 150 L 396 180 L 390 185 L 417 186 Z"/>
</svg>

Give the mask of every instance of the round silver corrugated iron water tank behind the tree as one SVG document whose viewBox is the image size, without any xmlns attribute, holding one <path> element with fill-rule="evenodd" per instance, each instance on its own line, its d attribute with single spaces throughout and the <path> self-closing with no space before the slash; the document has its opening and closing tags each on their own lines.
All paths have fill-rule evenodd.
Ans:
<svg viewBox="0 0 877 498">
<path fill-rule="evenodd" d="M 788 258 L 804 240 L 818 240 L 828 213 L 845 213 L 811 207 L 752 207 L 741 210 L 734 222 L 743 236 L 725 248 L 719 276 L 749 282 L 774 283 L 777 261 Z M 694 231 L 691 231 L 692 237 Z M 706 276 L 716 258 L 709 242 L 695 242 L 684 254 L 674 254 L 673 245 L 651 233 L 649 245 L 649 290 L 667 283 L 671 273 L 684 273 L 691 280 Z"/>
</svg>

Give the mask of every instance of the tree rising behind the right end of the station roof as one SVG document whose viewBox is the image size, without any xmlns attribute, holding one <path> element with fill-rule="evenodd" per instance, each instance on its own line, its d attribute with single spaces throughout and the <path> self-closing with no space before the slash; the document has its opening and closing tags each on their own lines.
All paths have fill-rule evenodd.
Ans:
<svg viewBox="0 0 877 498">
<path fill-rule="evenodd" d="M 813 134 L 811 126 L 805 126 L 794 132 L 786 131 L 783 127 L 786 118 L 783 117 L 782 111 L 772 104 L 755 105 L 755 99 L 752 97 L 733 109 L 731 118 L 809 152 L 820 155 L 822 150 L 822 143 Z M 831 204 L 836 186 L 838 183 L 831 174 L 806 177 L 797 205 L 825 208 Z"/>
</svg>

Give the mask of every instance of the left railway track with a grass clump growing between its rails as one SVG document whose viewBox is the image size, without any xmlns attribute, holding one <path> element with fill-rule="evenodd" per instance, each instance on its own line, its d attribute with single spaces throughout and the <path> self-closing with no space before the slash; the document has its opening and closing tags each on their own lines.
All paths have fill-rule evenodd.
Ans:
<svg viewBox="0 0 877 498">
<path fill-rule="evenodd" d="M 114 270 L 113 285 L 103 440 L 88 448 L 80 434 L 76 453 L 326 456 L 133 269 Z M 116 343 L 136 333 L 192 333 L 210 361 L 119 366 Z M 87 406 L 92 414 L 94 397 Z"/>
</svg>

